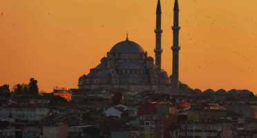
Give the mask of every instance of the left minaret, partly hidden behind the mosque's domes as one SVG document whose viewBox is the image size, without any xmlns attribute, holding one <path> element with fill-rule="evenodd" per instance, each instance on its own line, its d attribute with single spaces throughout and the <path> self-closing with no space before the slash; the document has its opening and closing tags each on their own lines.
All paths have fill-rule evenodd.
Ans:
<svg viewBox="0 0 257 138">
<path fill-rule="evenodd" d="M 156 28 L 155 32 L 155 65 L 158 69 L 162 68 L 162 8 L 158 0 L 156 8 Z"/>
</svg>

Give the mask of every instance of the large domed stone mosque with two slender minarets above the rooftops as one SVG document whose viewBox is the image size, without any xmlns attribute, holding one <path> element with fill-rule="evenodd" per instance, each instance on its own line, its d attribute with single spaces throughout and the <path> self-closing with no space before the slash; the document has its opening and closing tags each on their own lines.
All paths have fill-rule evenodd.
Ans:
<svg viewBox="0 0 257 138">
<path fill-rule="evenodd" d="M 113 46 L 106 57 L 88 75 L 79 77 L 79 88 L 113 89 L 131 91 L 151 90 L 155 92 L 178 94 L 191 90 L 179 81 L 179 8 L 175 0 L 173 9 L 173 71 L 168 75 L 162 70 L 162 8 L 160 0 L 156 9 L 155 59 L 150 57 L 138 43 L 125 41 Z"/>
</svg>

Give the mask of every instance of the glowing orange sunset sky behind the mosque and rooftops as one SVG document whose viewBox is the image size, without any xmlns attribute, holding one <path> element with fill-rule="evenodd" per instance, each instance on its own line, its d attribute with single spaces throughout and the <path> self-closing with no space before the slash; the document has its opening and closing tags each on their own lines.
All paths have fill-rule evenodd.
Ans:
<svg viewBox="0 0 257 138">
<path fill-rule="evenodd" d="M 119 41 L 154 57 L 157 0 L 1 0 L 0 85 L 77 88 Z M 180 0 L 180 81 L 257 93 L 257 1 Z M 173 0 L 162 0 L 162 66 L 171 74 Z"/>
</svg>

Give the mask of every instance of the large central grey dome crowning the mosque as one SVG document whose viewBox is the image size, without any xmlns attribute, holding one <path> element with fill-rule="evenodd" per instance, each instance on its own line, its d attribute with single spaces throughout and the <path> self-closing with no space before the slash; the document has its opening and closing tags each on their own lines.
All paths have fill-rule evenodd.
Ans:
<svg viewBox="0 0 257 138">
<path fill-rule="evenodd" d="M 110 50 L 111 53 L 142 53 L 144 49 L 133 41 L 121 41 L 120 43 L 115 44 Z"/>
</svg>

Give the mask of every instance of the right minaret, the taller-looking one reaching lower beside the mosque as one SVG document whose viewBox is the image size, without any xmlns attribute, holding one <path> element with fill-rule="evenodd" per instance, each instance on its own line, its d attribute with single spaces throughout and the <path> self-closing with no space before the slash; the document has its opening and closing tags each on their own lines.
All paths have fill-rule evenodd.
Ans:
<svg viewBox="0 0 257 138">
<path fill-rule="evenodd" d="M 178 92 L 179 90 L 179 79 L 178 79 L 178 67 L 179 67 L 179 32 L 180 32 L 180 26 L 179 26 L 179 20 L 178 20 L 178 14 L 179 14 L 179 8 L 178 8 L 178 0 L 175 0 L 174 3 L 174 9 L 173 9 L 173 46 L 171 47 L 173 51 L 173 66 L 172 66 L 172 86 L 173 90 L 175 92 Z"/>
</svg>

